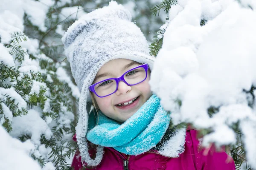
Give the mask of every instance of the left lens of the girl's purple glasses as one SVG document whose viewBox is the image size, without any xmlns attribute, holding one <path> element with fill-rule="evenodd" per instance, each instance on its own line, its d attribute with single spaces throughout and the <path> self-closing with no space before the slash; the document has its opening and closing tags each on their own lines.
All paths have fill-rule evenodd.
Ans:
<svg viewBox="0 0 256 170">
<path fill-rule="evenodd" d="M 97 84 L 94 90 L 98 96 L 107 96 L 116 91 L 116 80 L 109 79 Z"/>
</svg>

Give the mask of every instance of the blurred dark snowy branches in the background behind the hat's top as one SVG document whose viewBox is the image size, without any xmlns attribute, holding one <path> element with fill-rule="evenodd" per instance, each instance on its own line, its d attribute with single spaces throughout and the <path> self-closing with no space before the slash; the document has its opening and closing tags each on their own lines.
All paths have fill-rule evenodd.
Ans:
<svg viewBox="0 0 256 170">
<path fill-rule="evenodd" d="M 39 40 L 41 51 L 60 62 L 65 59 L 62 54 L 61 37 L 67 28 L 83 14 L 108 6 L 109 2 L 110 0 L 57 0 L 54 5 L 49 6 L 44 28 L 35 25 L 31 16 L 25 14 L 24 33 L 29 38 Z M 162 0 L 116 0 L 116 2 L 124 5 L 131 12 L 132 21 L 141 28 L 150 44 L 167 17 L 165 11 L 160 11 L 156 16 L 151 12 L 151 8 L 160 4 Z"/>
</svg>

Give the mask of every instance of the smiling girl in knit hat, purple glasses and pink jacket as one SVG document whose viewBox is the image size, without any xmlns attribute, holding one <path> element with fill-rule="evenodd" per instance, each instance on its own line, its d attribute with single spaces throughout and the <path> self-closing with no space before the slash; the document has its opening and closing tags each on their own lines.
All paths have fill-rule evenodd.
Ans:
<svg viewBox="0 0 256 170">
<path fill-rule="evenodd" d="M 154 58 L 123 6 L 86 14 L 62 41 L 81 91 L 75 170 L 235 170 L 224 151 L 199 149 L 196 130 L 169 128 L 148 84 Z"/>
</svg>

